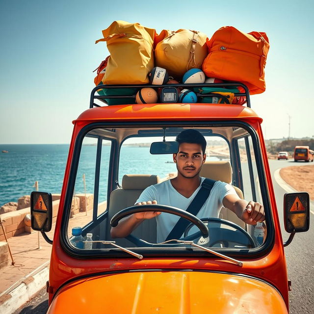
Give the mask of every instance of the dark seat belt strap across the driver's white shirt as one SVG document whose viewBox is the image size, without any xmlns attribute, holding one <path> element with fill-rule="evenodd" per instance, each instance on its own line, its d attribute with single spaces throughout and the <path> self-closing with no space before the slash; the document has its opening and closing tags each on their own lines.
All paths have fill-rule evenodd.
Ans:
<svg viewBox="0 0 314 314">
<path fill-rule="evenodd" d="M 198 214 L 202 206 L 204 205 L 205 201 L 208 199 L 210 191 L 214 186 L 216 181 L 211 179 L 205 179 L 202 183 L 200 190 L 197 192 L 195 197 L 193 198 L 192 202 L 186 209 L 186 211 L 190 212 L 194 216 Z M 170 234 L 167 236 L 165 241 L 172 240 L 172 239 L 179 239 L 183 234 L 184 230 L 188 226 L 190 222 L 183 217 L 181 217 L 173 229 L 170 231 Z"/>
</svg>

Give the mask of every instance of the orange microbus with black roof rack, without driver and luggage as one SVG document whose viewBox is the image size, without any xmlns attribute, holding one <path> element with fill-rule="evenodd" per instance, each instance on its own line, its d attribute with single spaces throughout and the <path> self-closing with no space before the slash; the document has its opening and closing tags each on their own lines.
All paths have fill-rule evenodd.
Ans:
<svg viewBox="0 0 314 314">
<path fill-rule="evenodd" d="M 198 103 L 106 105 L 106 99 L 119 100 L 119 95 L 98 96 L 97 90 L 124 86 L 92 90 L 90 108 L 73 122 L 53 239 L 46 234 L 54 217 L 52 195 L 31 195 L 32 228 L 52 243 L 49 314 L 288 313 L 284 246 L 296 232 L 309 229 L 309 194 L 285 195 L 290 237 L 283 243 L 262 118 L 250 107 L 247 87 L 235 84 L 244 91 L 235 96 L 245 96 L 246 104 L 203 103 L 197 92 Z M 231 83 L 145 87 L 202 86 Z M 151 185 L 149 190 L 159 183 L 174 189 L 169 180 L 178 175 L 177 166 L 180 170 L 175 161 L 192 158 L 178 152 L 175 140 L 187 129 L 207 142 L 201 177 L 262 204 L 262 223 L 245 223 L 224 207 L 211 210 L 215 204 L 208 205 L 211 214 L 194 215 L 180 208 L 179 198 L 188 196 L 177 190 L 172 191 L 177 206 L 134 205 Z M 194 161 L 189 162 L 186 172 L 193 172 Z M 213 192 L 214 187 L 209 197 Z M 139 212 L 160 215 L 142 220 L 130 235 L 112 238 L 112 227 Z M 182 235 L 166 240 L 162 217 L 165 224 L 187 220 Z"/>
</svg>

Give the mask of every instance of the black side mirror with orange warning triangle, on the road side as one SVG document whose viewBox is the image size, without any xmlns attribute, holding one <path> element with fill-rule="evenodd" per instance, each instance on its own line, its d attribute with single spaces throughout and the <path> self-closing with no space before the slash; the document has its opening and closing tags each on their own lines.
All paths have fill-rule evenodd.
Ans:
<svg viewBox="0 0 314 314">
<path fill-rule="evenodd" d="M 310 196 L 307 192 L 286 193 L 284 221 L 288 233 L 305 232 L 310 228 Z"/>
</svg>

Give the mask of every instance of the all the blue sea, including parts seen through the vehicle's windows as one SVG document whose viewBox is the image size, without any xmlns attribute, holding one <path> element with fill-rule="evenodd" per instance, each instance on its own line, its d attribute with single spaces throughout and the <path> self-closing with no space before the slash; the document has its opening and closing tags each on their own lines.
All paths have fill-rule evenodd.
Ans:
<svg viewBox="0 0 314 314">
<path fill-rule="evenodd" d="M 86 178 L 94 178 L 95 149 L 95 146 L 86 146 L 82 150 L 84 158 L 80 161 L 79 169 L 83 169 Z M 151 173 L 164 178 L 176 171 L 172 156 L 149 157 L 148 149 L 148 147 L 127 147 L 121 152 L 121 155 L 126 157 L 125 162 L 120 162 L 119 173 Z M 0 144 L 0 207 L 8 202 L 17 202 L 24 195 L 30 195 L 35 191 L 35 181 L 38 181 L 39 191 L 61 193 L 68 153 L 68 144 Z M 140 164 L 137 161 L 139 156 L 146 156 Z M 210 159 L 212 158 L 215 157 Z M 144 172 L 143 169 L 149 171 Z M 119 178 L 120 184 L 121 179 Z M 84 192 L 81 178 L 77 180 L 75 189 L 76 193 Z M 93 189 L 92 180 L 86 180 L 86 192 L 93 193 Z M 99 199 L 105 200 L 106 190 L 100 191 L 100 194 Z"/>
</svg>

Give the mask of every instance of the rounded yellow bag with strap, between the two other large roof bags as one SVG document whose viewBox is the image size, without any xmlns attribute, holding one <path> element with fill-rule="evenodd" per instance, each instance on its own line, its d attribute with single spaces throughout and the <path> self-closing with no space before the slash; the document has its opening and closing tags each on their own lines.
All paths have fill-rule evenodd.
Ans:
<svg viewBox="0 0 314 314">
<path fill-rule="evenodd" d="M 201 68 L 206 56 L 207 35 L 196 30 L 162 30 L 155 39 L 155 64 L 181 79 L 192 68 Z"/>
</svg>

